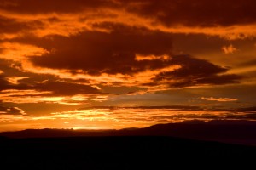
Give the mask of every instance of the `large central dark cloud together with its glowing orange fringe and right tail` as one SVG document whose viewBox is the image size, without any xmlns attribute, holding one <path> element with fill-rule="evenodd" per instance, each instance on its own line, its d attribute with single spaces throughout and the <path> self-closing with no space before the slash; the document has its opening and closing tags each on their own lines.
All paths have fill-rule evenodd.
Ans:
<svg viewBox="0 0 256 170">
<path fill-rule="evenodd" d="M 83 31 L 70 37 L 20 38 L 19 43 L 14 43 L 13 51 L 8 48 L 12 43 L 3 43 L 6 48 L 0 57 L 10 59 L 9 56 L 19 56 L 14 59 L 21 63 L 23 71 L 48 73 L 73 80 L 84 79 L 89 86 L 102 84 L 146 87 L 151 88 L 151 92 L 169 88 L 230 84 L 241 80 L 235 74 L 225 74 L 229 71 L 226 67 L 185 54 L 172 54 L 170 33 L 107 22 L 97 26 L 108 27 L 112 31 Z M 21 47 L 23 50 L 19 51 L 18 48 Z M 28 47 L 29 50 L 26 50 Z M 60 82 L 55 84 L 59 86 Z M 59 87 L 66 87 L 66 84 Z M 48 88 L 53 86 L 44 83 L 46 85 Z M 29 89 L 46 89 L 42 88 L 42 84 L 30 86 L 33 88 Z M 69 85 L 72 86 L 74 83 Z M 79 87 L 74 91 L 55 88 L 55 94 L 74 95 L 81 88 L 81 85 L 76 86 Z M 90 94 L 89 88 L 91 87 L 87 87 L 87 91 Z"/>
</svg>

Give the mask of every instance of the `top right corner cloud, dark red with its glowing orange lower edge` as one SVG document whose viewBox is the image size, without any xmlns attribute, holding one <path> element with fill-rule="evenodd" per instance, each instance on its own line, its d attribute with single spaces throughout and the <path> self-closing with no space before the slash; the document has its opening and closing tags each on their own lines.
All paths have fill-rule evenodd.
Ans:
<svg viewBox="0 0 256 170">
<path fill-rule="evenodd" d="M 161 2 L 157 0 L 119 1 L 129 13 L 151 20 L 152 27 L 173 33 L 206 34 L 240 39 L 255 37 L 256 13 L 253 0 L 212 1 L 192 0 Z M 218 11 L 218 13 L 216 13 Z M 245 12 L 247 11 L 247 12 Z M 250 11 L 250 12 L 248 12 Z M 149 27 L 151 27 L 149 25 Z"/>
</svg>

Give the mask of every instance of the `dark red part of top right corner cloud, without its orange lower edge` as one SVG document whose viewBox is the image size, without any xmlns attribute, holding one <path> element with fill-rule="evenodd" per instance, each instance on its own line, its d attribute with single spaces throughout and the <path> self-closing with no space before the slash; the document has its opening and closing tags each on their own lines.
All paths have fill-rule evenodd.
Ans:
<svg viewBox="0 0 256 170">
<path fill-rule="evenodd" d="M 122 2 L 122 1 L 119 1 Z M 127 4 L 128 3 L 128 4 Z M 253 0 L 129 0 L 127 10 L 154 18 L 166 26 L 231 26 L 254 24 L 256 2 Z M 130 4 L 130 5 L 129 5 Z"/>
</svg>

